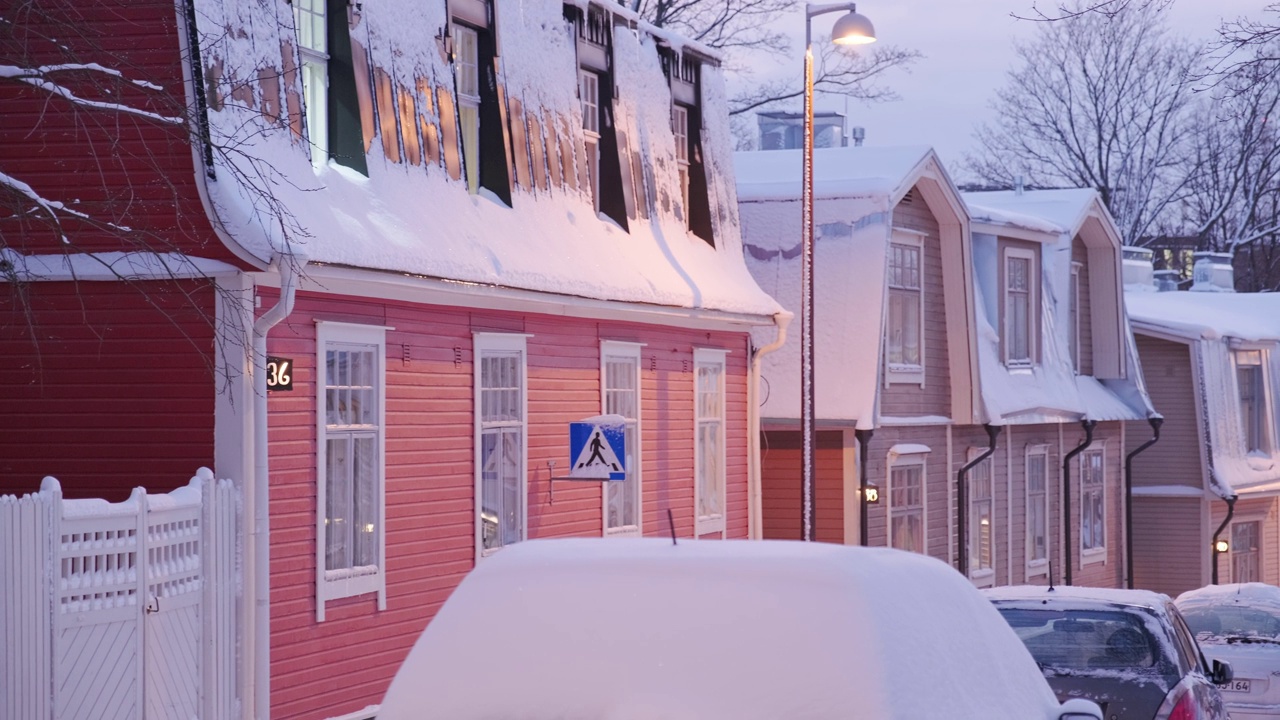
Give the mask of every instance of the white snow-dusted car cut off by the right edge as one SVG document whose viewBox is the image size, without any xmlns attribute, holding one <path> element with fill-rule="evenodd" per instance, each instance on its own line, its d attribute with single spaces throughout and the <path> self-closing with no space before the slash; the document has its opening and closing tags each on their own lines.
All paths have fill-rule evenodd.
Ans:
<svg viewBox="0 0 1280 720">
<path fill-rule="evenodd" d="M 1235 678 L 1222 685 L 1231 720 L 1280 717 L 1280 588 L 1208 585 L 1175 602 L 1204 655 L 1231 664 Z"/>
</svg>

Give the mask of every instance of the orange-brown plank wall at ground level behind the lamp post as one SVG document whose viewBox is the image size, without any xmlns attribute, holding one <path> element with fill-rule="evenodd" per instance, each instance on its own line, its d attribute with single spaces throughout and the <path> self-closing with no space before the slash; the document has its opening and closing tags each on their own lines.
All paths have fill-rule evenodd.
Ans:
<svg viewBox="0 0 1280 720">
<path fill-rule="evenodd" d="M 844 447 L 841 430 L 818 432 L 814 468 L 814 502 L 818 512 L 818 539 L 858 543 L 845 538 Z M 762 523 L 768 539 L 803 538 L 800 500 L 801 436 L 794 429 L 760 433 Z"/>
</svg>

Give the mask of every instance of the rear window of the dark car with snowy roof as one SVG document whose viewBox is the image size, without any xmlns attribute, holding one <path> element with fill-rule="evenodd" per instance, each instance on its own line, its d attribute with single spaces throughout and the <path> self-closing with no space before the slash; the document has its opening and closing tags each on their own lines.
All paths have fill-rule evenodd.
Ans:
<svg viewBox="0 0 1280 720">
<path fill-rule="evenodd" d="M 1051 671 L 1155 667 L 1157 643 L 1123 610 L 998 607 L 1027 650 Z"/>
</svg>

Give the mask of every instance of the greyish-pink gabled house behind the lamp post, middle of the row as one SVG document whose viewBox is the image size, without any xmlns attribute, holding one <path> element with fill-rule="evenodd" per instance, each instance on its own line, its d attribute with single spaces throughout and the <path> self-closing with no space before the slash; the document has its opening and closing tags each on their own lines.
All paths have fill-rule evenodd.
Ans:
<svg viewBox="0 0 1280 720">
<path fill-rule="evenodd" d="M 799 156 L 735 165 L 748 265 L 796 307 Z M 1124 420 L 1152 410 L 1096 193 L 961 195 L 927 147 L 818 150 L 815 177 L 818 539 L 1123 585 Z M 765 537 L 800 537 L 797 356 L 762 370 Z"/>
</svg>

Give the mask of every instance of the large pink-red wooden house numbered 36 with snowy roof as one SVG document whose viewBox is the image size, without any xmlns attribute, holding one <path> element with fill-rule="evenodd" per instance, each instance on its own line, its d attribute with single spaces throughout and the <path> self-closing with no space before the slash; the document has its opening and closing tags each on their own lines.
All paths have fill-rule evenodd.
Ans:
<svg viewBox="0 0 1280 720">
<path fill-rule="evenodd" d="M 613 3 L 101 13 L 87 31 L 119 54 L 101 61 L 200 129 L 128 118 L 140 154 L 164 149 L 133 183 L 174 197 L 79 258 L 0 219 L 47 338 L 4 305 L 0 489 L 58 475 L 119 498 L 198 465 L 234 480 L 241 716 L 372 717 L 452 588 L 507 544 L 756 532 L 769 343 L 751 331 L 788 315 L 742 260 L 713 51 Z M 92 192 L 5 124 L 0 159 L 36 192 Z M 568 424 L 602 413 L 625 419 L 626 479 L 557 479 Z"/>
</svg>

